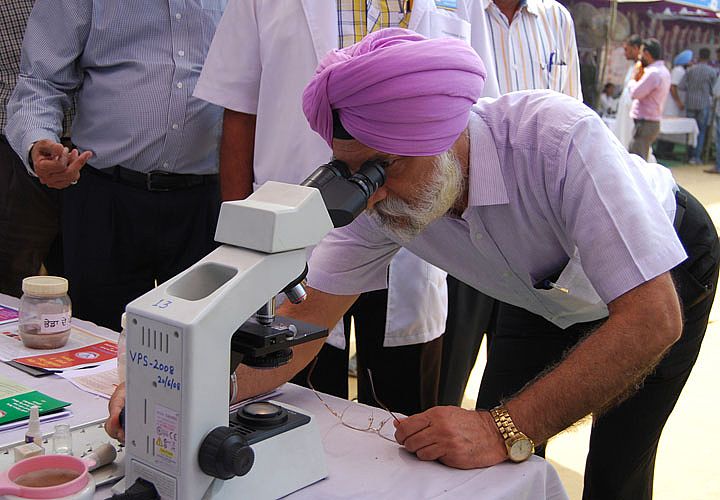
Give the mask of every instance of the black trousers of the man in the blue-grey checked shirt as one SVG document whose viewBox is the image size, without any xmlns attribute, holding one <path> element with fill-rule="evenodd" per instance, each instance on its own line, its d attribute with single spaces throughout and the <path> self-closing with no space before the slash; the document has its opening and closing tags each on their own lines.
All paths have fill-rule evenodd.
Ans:
<svg viewBox="0 0 720 500">
<path fill-rule="evenodd" d="M 128 302 L 217 246 L 220 191 L 147 191 L 90 169 L 63 190 L 65 273 L 73 315 L 119 330 Z"/>
</svg>

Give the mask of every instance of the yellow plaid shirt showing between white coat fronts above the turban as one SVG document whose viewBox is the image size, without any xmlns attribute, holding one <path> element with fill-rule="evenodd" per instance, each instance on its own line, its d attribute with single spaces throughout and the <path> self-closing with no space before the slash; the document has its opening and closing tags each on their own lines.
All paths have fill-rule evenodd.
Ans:
<svg viewBox="0 0 720 500">
<path fill-rule="evenodd" d="M 407 0 L 337 0 L 338 46 L 348 47 L 383 28 L 407 28 Z"/>
</svg>

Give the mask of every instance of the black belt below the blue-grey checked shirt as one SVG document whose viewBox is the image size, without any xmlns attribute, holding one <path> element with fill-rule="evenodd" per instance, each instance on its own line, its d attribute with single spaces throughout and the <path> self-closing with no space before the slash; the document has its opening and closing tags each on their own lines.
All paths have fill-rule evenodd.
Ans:
<svg viewBox="0 0 720 500">
<path fill-rule="evenodd" d="M 126 184 L 146 191 L 179 191 L 205 184 L 215 184 L 218 181 L 217 174 L 173 174 L 159 170 L 143 173 L 119 165 L 103 168 L 102 170 L 88 165 L 84 171 L 112 179 L 113 182 Z"/>
</svg>

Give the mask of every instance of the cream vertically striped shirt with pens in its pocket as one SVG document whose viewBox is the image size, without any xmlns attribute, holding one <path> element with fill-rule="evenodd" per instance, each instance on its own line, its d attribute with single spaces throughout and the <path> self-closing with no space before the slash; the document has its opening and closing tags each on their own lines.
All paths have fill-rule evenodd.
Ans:
<svg viewBox="0 0 720 500">
<path fill-rule="evenodd" d="M 582 99 L 570 12 L 555 0 L 522 0 L 511 21 L 492 0 L 487 14 L 500 93 L 551 89 Z"/>
</svg>

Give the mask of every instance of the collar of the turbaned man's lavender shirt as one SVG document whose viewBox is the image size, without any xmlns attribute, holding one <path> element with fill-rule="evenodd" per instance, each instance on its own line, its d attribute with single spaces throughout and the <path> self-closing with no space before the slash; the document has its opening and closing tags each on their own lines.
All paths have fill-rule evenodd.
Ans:
<svg viewBox="0 0 720 500">
<path fill-rule="evenodd" d="M 504 205 L 510 202 L 492 131 L 482 117 L 482 104 L 470 112 L 470 168 L 468 207 Z"/>
</svg>

